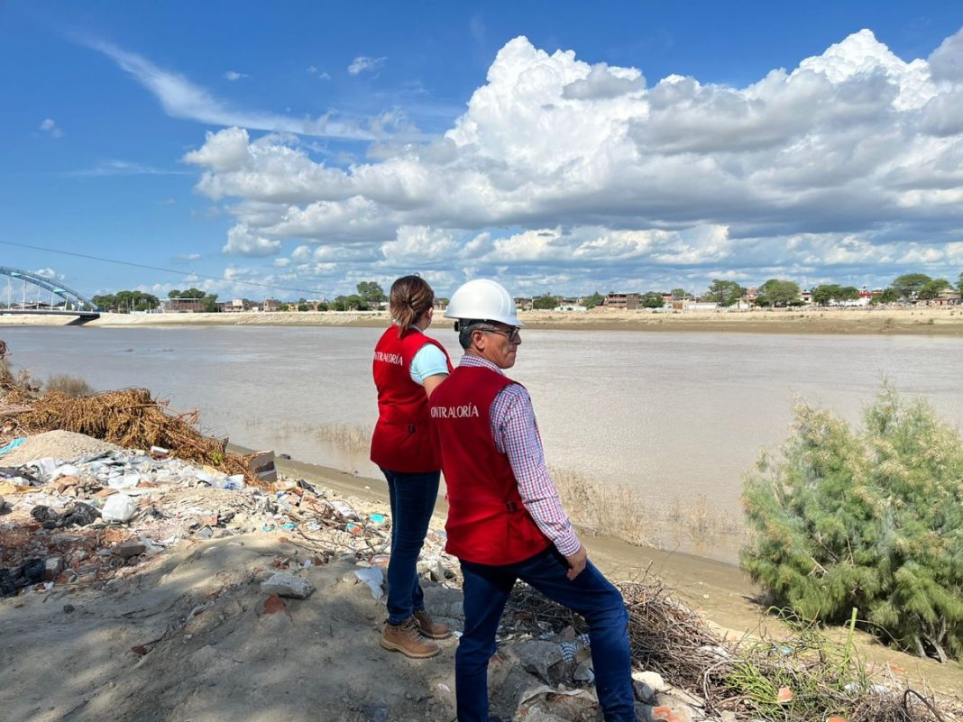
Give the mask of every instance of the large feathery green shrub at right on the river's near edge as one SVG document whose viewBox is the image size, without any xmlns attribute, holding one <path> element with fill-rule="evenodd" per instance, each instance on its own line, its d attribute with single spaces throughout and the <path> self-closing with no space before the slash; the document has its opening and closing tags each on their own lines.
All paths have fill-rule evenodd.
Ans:
<svg viewBox="0 0 963 722">
<path fill-rule="evenodd" d="M 888 385 L 852 430 L 800 404 L 745 480 L 742 565 L 770 600 L 921 657 L 963 655 L 963 439 Z"/>
</svg>

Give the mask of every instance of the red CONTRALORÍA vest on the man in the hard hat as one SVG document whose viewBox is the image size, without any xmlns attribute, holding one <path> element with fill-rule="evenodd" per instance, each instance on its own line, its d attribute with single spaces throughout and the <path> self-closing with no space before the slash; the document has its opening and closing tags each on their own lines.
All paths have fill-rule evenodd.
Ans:
<svg viewBox="0 0 963 722">
<path fill-rule="evenodd" d="M 479 564 L 523 561 L 551 544 L 522 503 L 508 454 L 491 435 L 492 401 L 511 383 L 491 369 L 459 366 L 429 401 L 448 487 L 445 551 Z"/>
</svg>

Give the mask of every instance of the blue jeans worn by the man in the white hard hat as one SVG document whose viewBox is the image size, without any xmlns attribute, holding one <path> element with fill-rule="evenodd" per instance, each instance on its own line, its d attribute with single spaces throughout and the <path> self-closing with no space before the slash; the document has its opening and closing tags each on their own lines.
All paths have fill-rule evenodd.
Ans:
<svg viewBox="0 0 963 722">
<path fill-rule="evenodd" d="M 606 722 L 636 722 L 629 651 L 629 614 L 618 589 L 589 561 L 575 580 L 555 547 L 506 566 L 461 561 L 465 632 L 455 652 L 458 722 L 488 722 L 488 659 L 515 580 L 577 611 L 588 623 L 595 690 Z"/>
</svg>

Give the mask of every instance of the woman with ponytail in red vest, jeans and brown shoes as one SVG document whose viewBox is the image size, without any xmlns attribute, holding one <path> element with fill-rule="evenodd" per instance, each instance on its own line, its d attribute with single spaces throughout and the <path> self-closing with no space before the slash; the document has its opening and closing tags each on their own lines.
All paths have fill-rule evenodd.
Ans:
<svg viewBox="0 0 963 722">
<path fill-rule="evenodd" d="M 406 275 L 395 281 L 388 310 L 392 325 L 377 342 L 372 366 L 378 418 L 371 460 L 387 479 L 391 500 L 388 622 L 381 646 L 406 657 L 427 658 L 439 652 L 432 640 L 452 633 L 425 610 L 416 568 L 441 468 L 429 436 L 428 399 L 452 373 L 452 362 L 445 348 L 425 335 L 434 292 L 423 278 Z"/>
</svg>

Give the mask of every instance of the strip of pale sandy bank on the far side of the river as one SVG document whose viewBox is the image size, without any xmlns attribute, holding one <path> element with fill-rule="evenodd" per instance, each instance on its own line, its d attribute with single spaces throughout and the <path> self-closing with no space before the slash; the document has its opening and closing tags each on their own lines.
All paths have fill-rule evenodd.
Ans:
<svg viewBox="0 0 963 722">
<path fill-rule="evenodd" d="M 790 334 L 882 334 L 963 338 L 963 308 L 757 309 L 754 311 L 528 311 L 530 328 L 592 331 L 692 331 Z M 65 325 L 63 316 L 0 316 L 6 325 Z M 103 314 L 91 326 L 332 325 L 379 327 L 383 312 Z M 447 323 L 437 319 L 437 323 Z"/>
</svg>

